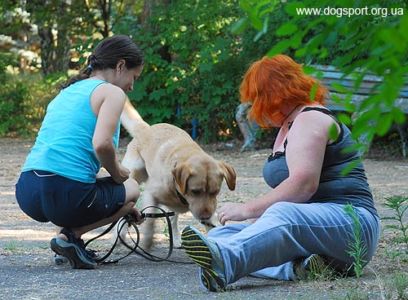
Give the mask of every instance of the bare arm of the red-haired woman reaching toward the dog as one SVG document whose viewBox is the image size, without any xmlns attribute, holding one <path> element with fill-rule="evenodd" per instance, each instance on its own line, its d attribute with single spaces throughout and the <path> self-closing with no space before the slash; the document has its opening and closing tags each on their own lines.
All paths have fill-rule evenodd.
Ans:
<svg viewBox="0 0 408 300">
<path fill-rule="evenodd" d="M 288 135 L 286 161 L 289 177 L 275 189 L 244 204 L 229 203 L 218 211 L 220 222 L 260 217 L 279 201 L 305 202 L 316 192 L 333 119 L 320 112 L 301 113 Z M 224 216 L 224 219 L 223 219 Z M 224 221 L 224 222 L 223 222 Z"/>
</svg>

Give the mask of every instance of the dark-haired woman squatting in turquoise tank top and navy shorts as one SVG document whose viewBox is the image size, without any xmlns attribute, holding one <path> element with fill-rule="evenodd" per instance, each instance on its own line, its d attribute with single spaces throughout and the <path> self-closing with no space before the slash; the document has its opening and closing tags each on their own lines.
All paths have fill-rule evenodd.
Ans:
<svg viewBox="0 0 408 300">
<path fill-rule="evenodd" d="M 95 268 L 81 236 L 131 214 L 139 197 L 116 155 L 126 92 L 143 70 L 143 54 L 124 35 L 102 40 L 88 65 L 50 102 L 16 184 L 20 208 L 62 227 L 51 249 L 73 268 Z M 104 167 L 111 177 L 96 178 Z"/>
</svg>

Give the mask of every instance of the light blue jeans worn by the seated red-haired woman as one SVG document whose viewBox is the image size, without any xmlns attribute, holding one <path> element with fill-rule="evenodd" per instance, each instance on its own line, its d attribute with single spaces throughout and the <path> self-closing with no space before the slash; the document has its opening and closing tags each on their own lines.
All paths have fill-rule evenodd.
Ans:
<svg viewBox="0 0 408 300">
<path fill-rule="evenodd" d="M 355 208 L 368 263 L 377 248 L 380 222 L 364 208 Z M 231 224 L 209 231 L 225 267 L 226 283 L 253 275 L 295 280 L 293 261 L 319 254 L 344 268 L 353 263 L 347 253 L 353 243 L 353 221 L 344 205 L 278 202 L 252 224 Z"/>
</svg>

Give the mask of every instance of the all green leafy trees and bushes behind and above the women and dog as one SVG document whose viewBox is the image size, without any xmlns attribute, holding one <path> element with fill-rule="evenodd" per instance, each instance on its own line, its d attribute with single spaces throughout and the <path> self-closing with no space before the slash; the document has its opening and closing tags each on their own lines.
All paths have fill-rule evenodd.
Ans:
<svg viewBox="0 0 408 300">
<path fill-rule="evenodd" d="M 358 7 L 363 5 L 360 2 L 153 1 L 147 3 L 151 11 L 146 18 L 143 2 L 130 0 L 73 0 L 62 6 L 56 0 L 46 5 L 38 0 L 6 1 L 0 5 L 0 25 L 20 49 L 41 53 L 42 61 L 48 60 L 43 65 L 48 71 L 42 71 L 50 75 L 55 70 L 65 72 L 68 58 L 71 68 L 83 66 L 96 42 L 109 33 L 131 35 L 146 56 L 144 74 L 130 95 L 142 116 L 149 123 L 170 122 L 187 130 L 197 119 L 203 141 L 238 135 L 234 114 L 242 75 L 252 61 L 266 53 L 283 52 L 305 64 L 333 64 L 345 74 L 354 74 L 355 89 L 365 74 L 383 76 L 383 83 L 374 88 L 376 94 L 361 107 L 346 104 L 351 111 L 361 111 L 353 121 L 354 136 L 365 134 L 369 142 L 374 135 L 385 134 L 393 122 L 404 121 L 404 114 L 393 103 L 406 84 L 408 35 L 404 29 L 408 14 L 387 18 L 296 14 L 299 7 Z M 61 14 L 64 5 L 66 13 Z M 367 6 L 378 7 L 374 1 L 368 1 Z M 391 6 L 406 8 L 406 3 L 381 4 Z M 38 27 L 37 33 L 33 25 Z M 57 36 L 51 34 L 51 28 Z M 51 41 L 51 37 L 56 39 Z M 21 83 L 21 89 L 9 85 L 7 90 L 13 92 L 7 97 L 26 97 L 26 84 L 31 97 L 31 87 L 37 83 L 41 92 L 46 90 L 47 80 L 36 79 Z M 49 89 L 52 92 L 41 99 L 52 98 L 54 87 Z M 17 100 L 12 105 L 1 103 L 5 114 L 21 111 Z M 380 109 L 387 112 L 381 114 Z"/>
</svg>

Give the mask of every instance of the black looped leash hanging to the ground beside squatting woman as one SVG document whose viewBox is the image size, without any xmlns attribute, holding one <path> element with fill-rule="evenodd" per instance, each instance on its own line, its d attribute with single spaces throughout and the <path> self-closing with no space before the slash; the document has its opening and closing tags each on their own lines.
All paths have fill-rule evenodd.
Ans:
<svg viewBox="0 0 408 300">
<path fill-rule="evenodd" d="M 148 210 L 148 209 L 158 209 L 161 212 L 160 213 L 148 213 L 148 212 L 146 212 L 146 210 Z M 174 216 L 174 212 L 166 212 L 162 208 L 157 207 L 157 206 L 148 206 L 148 207 L 145 207 L 144 209 L 142 209 L 140 213 L 141 213 L 143 219 L 145 219 L 145 218 L 166 218 L 166 223 L 167 223 L 167 228 L 168 228 L 168 233 L 169 233 L 169 250 L 167 252 L 167 255 L 165 257 L 158 257 L 156 255 L 153 255 L 153 254 L 147 252 L 143 248 L 141 248 L 139 246 L 140 232 L 139 232 L 139 229 L 137 227 L 137 221 L 131 215 L 127 215 L 127 216 L 119 219 L 119 221 L 112 223 L 104 232 L 102 232 L 98 236 L 90 239 L 89 241 L 87 241 L 85 243 L 85 247 L 86 247 L 91 242 L 95 241 L 96 239 L 104 236 L 109 231 L 111 231 L 112 228 L 114 228 L 116 224 L 118 225 L 117 226 L 117 233 L 116 233 L 115 242 L 113 243 L 111 249 L 104 256 L 95 259 L 95 261 L 98 264 L 117 263 L 118 261 L 124 259 L 125 257 L 128 257 L 132 253 L 140 255 L 140 256 L 142 256 L 142 257 L 144 257 L 144 258 L 146 258 L 148 260 L 154 261 L 154 262 L 160 262 L 160 261 L 177 262 L 177 261 L 169 260 L 169 257 L 171 256 L 171 254 L 173 252 L 173 231 L 172 231 L 172 228 L 171 228 L 170 217 Z M 122 239 L 122 237 L 120 235 L 120 233 L 121 233 L 122 229 L 125 227 L 125 225 L 128 226 L 128 230 L 129 230 L 130 227 L 132 227 L 136 232 L 136 240 L 134 240 L 132 238 L 132 236 L 130 235 L 130 233 L 129 233 L 129 237 L 130 237 L 131 241 L 133 242 L 133 245 L 129 245 L 125 240 Z M 118 241 L 120 241 L 126 248 L 128 248 L 129 252 L 126 255 L 124 255 L 124 256 L 122 256 L 120 258 L 113 259 L 113 260 L 107 260 L 108 257 L 112 254 L 113 250 L 115 249 Z"/>
</svg>

